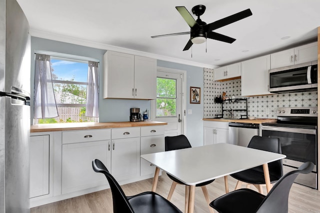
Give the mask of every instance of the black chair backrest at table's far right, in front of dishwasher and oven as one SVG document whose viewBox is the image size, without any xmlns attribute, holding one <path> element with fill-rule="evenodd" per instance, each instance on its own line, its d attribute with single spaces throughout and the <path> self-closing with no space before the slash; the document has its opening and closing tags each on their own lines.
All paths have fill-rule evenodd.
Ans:
<svg viewBox="0 0 320 213">
<path fill-rule="evenodd" d="M 261 136 L 253 136 L 248 144 L 249 148 L 259 149 L 282 154 L 281 146 L 278 138 L 267 138 Z M 283 175 L 282 160 L 268 163 L 269 174 L 280 179 Z M 255 167 L 255 170 L 263 172 L 262 166 Z"/>
</svg>

